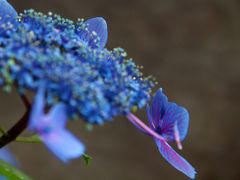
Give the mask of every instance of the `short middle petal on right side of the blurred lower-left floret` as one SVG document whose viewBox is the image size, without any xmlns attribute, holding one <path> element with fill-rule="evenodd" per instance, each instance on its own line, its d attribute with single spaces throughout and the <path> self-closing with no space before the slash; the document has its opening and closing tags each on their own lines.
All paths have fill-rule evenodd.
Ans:
<svg viewBox="0 0 240 180">
<path fill-rule="evenodd" d="M 66 106 L 63 103 L 55 104 L 48 115 L 46 115 L 46 119 L 49 120 L 48 125 L 53 128 L 63 128 L 67 122 L 66 115 Z"/>
</svg>

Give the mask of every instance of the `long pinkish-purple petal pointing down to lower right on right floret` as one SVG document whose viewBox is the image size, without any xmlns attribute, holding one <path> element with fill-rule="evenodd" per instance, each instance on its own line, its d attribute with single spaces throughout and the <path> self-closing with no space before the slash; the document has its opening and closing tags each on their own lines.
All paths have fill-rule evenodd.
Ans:
<svg viewBox="0 0 240 180">
<path fill-rule="evenodd" d="M 196 171 L 183 157 L 177 154 L 166 141 L 155 139 L 159 152 L 177 170 L 186 174 L 191 179 L 195 178 Z"/>
</svg>

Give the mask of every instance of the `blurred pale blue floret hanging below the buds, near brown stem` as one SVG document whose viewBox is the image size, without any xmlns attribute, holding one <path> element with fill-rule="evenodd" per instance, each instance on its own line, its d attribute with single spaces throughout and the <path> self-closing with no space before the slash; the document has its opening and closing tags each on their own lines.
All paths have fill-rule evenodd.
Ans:
<svg viewBox="0 0 240 180">
<path fill-rule="evenodd" d="M 29 129 L 35 131 L 43 143 L 63 162 L 80 157 L 85 146 L 68 130 L 66 106 L 57 103 L 48 112 L 44 113 L 44 94 L 46 83 L 42 82 L 30 114 Z"/>
</svg>

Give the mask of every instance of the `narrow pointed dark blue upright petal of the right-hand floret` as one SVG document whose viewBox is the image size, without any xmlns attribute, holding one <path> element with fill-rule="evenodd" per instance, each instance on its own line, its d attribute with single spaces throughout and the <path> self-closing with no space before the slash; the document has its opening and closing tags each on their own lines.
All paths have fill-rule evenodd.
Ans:
<svg viewBox="0 0 240 180">
<path fill-rule="evenodd" d="M 160 120 L 164 115 L 167 103 L 168 103 L 167 96 L 163 94 L 162 88 L 159 88 L 153 97 L 151 105 L 153 124 L 155 128 L 158 128 L 159 126 Z"/>
</svg>

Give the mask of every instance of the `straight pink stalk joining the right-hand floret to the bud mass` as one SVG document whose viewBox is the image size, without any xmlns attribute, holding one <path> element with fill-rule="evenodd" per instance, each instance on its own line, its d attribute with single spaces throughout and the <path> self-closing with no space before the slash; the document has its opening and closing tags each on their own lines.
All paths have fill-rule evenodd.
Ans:
<svg viewBox="0 0 240 180">
<path fill-rule="evenodd" d="M 135 115 L 133 114 L 128 114 L 127 118 L 129 119 L 130 122 L 134 121 L 138 126 L 140 126 L 143 130 L 145 130 L 147 133 L 152 135 L 153 137 L 157 138 L 158 140 L 161 141 L 166 141 L 164 137 L 156 133 L 154 130 L 150 129 L 146 124 L 144 124 L 140 119 L 138 119 Z M 132 122 L 133 123 L 133 122 Z M 134 124 L 134 123 L 133 123 Z"/>
</svg>

